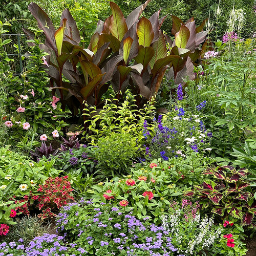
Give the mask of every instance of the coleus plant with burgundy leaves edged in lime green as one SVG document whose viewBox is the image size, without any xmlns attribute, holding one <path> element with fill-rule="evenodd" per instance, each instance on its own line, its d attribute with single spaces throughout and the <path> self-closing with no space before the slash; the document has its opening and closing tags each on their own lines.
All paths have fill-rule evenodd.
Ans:
<svg viewBox="0 0 256 256">
<path fill-rule="evenodd" d="M 197 197 L 203 208 L 222 217 L 231 215 L 241 220 L 241 225 L 250 225 L 256 214 L 256 201 L 252 198 L 249 183 L 245 182 L 248 170 L 232 166 L 206 169 L 207 178 L 202 185 L 185 191 L 188 197 Z"/>
</svg>

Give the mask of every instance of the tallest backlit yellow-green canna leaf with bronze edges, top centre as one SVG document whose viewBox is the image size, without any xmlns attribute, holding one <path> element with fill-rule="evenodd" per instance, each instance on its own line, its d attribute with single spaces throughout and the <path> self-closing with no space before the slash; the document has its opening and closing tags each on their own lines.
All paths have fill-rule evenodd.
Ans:
<svg viewBox="0 0 256 256">
<path fill-rule="evenodd" d="M 125 18 L 117 4 L 110 2 L 110 8 L 112 10 L 113 17 L 110 20 L 109 29 L 112 35 L 114 35 L 119 41 L 121 41 L 124 34 L 128 30 L 127 25 L 125 23 Z"/>
</svg>

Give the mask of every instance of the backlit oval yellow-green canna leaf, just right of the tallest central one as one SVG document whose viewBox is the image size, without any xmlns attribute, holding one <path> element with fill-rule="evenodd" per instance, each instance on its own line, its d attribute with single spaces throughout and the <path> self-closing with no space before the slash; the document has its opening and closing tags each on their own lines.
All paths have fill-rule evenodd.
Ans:
<svg viewBox="0 0 256 256">
<path fill-rule="evenodd" d="M 139 37 L 139 44 L 143 47 L 151 45 L 154 39 L 154 31 L 150 20 L 142 17 L 137 24 L 137 31 Z"/>
</svg>

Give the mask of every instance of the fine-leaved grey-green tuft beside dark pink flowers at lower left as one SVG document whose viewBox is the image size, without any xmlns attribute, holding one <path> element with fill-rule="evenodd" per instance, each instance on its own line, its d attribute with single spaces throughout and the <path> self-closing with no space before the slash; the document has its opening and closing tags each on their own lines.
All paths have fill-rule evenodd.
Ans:
<svg viewBox="0 0 256 256">
<path fill-rule="evenodd" d="M 23 239 L 23 244 L 28 246 L 34 237 L 42 236 L 44 233 L 50 231 L 50 224 L 43 223 L 37 217 L 23 217 L 22 219 L 15 219 L 16 225 L 12 226 L 11 230 L 5 237 L 6 242 L 18 242 Z"/>
</svg>

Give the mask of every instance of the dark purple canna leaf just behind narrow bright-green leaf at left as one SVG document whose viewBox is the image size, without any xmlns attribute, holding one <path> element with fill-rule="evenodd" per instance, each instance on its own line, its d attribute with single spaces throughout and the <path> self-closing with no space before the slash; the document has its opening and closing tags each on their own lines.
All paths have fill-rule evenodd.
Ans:
<svg viewBox="0 0 256 256">
<path fill-rule="evenodd" d="M 78 29 L 77 29 L 76 22 L 75 22 L 74 18 L 72 17 L 72 15 L 70 14 L 68 9 L 65 9 L 62 12 L 61 19 L 64 19 L 64 18 L 67 19 L 65 35 L 72 38 L 75 42 L 77 42 L 77 44 L 79 44 L 79 42 L 81 40 L 80 39 L 80 34 L 79 34 Z"/>
</svg>

